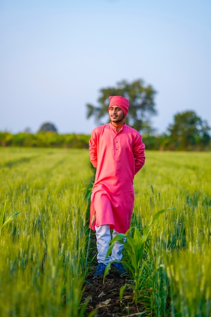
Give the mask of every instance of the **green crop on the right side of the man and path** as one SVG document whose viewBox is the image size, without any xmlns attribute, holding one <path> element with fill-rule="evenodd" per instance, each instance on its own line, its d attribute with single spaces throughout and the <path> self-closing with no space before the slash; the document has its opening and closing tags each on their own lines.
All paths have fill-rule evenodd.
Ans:
<svg viewBox="0 0 211 317">
<path fill-rule="evenodd" d="M 157 219 L 144 255 L 142 300 L 156 316 L 211 314 L 210 162 L 209 152 L 148 151 L 135 178 L 133 226 L 173 208 Z"/>
</svg>

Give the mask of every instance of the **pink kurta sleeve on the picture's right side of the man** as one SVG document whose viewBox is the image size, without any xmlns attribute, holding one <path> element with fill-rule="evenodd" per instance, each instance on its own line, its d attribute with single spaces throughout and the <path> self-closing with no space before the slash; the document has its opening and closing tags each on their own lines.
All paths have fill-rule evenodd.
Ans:
<svg viewBox="0 0 211 317">
<path fill-rule="evenodd" d="M 137 174 L 145 163 L 145 145 L 140 134 L 134 139 L 133 153 L 135 158 L 135 174 Z"/>
</svg>

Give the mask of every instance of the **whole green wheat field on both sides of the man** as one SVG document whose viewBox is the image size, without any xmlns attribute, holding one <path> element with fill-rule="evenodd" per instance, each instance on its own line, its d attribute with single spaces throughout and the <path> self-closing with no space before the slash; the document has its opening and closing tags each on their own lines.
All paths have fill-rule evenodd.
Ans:
<svg viewBox="0 0 211 317">
<path fill-rule="evenodd" d="M 210 152 L 146 151 L 135 177 L 131 226 L 142 236 L 162 211 L 138 268 L 123 254 L 146 315 L 211 316 L 210 162 Z M 93 177 L 88 149 L 0 148 L 1 317 L 85 316 Z"/>
</svg>

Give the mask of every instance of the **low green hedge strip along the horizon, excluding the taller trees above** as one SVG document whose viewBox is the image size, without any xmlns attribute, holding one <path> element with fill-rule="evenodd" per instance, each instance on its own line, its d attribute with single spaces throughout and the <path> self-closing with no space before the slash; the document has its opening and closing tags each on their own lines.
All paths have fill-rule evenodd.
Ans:
<svg viewBox="0 0 211 317">
<path fill-rule="evenodd" d="M 211 141 L 208 135 L 194 136 L 143 134 L 146 149 L 149 150 L 183 150 L 208 151 L 211 150 Z M 36 134 L 21 132 L 11 134 L 0 132 L 0 146 L 17 147 L 58 147 L 58 148 L 89 148 L 90 135 L 84 134 L 58 134 L 54 132 L 39 132 Z"/>
</svg>

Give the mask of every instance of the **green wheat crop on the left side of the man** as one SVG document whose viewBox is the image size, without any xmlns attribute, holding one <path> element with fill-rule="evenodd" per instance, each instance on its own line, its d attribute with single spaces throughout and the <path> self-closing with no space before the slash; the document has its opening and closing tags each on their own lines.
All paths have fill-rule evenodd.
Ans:
<svg viewBox="0 0 211 317">
<path fill-rule="evenodd" d="M 0 166 L 1 317 L 83 315 L 88 150 L 1 149 Z"/>
</svg>

